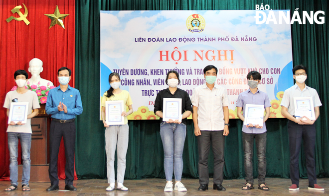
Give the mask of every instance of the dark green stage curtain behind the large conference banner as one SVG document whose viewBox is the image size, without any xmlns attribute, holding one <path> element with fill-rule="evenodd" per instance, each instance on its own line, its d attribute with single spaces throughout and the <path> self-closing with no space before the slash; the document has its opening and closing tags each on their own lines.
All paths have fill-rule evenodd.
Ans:
<svg viewBox="0 0 329 196">
<path fill-rule="evenodd" d="M 269 4 L 272 9 L 299 8 L 302 11 L 324 10 L 327 0 L 79 0 L 76 1 L 76 86 L 81 92 L 84 113 L 77 119 L 76 171 L 79 179 L 106 178 L 104 126 L 99 121 L 100 10 L 235 10 L 255 9 L 255 4 Z M 291 13 L 293 14 L 293 13 Z M 301 16 L 302 17 L 302 16 Z M 327 18 L 326 18 L 327 19 Z M 292 24 L 294 65 L 308 67 L 307 85 L 317 89 L 323 106 L 317 120 L 316 169 L 319 178 L 329 177 L 329 138 L 327 117 L 329 77 L 329 26 Z M 204 65 L 200 65 L 201 68 Z M 136 110 L 136 108 L 134 108 Z M 87 111 L 87 112 L 86 112 Z M 230 134 L 225 141 L 225 179 L 244 178 L 242 122 L 230 120 Z M 289 145 L 286 119 L 267 122 L 267 177 L 289 178 Z M 164 152 L 160 122 L 129 121 L 129 149 L 126 179 L 165 178 Z M 187 123 L 183 152 L 183 177 L 198 178 L 197 142 L 193 123 Z M 302 147 L 300 176 L 307 177 Z M 257 177 L 254 153 L 254 176 Z M 115 166 L 116 168 L 116 166 Z M 209 172 L 213 172 L 213 155 L 209 155 Z"/>
</svg>

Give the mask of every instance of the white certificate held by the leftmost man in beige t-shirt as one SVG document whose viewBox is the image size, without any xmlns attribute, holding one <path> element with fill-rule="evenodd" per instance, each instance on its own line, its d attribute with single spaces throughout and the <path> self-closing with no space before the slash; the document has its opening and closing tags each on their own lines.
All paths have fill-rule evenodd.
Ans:
<svg viewBox="0 0 329 196">
<path fill-rule="evenodd" d="M 8 124 L 11 121 L 16 124 L 20 121 L 26 123 L 27 121 L 28 102 L 11 102 L 9 109 Z"/>
</svg>

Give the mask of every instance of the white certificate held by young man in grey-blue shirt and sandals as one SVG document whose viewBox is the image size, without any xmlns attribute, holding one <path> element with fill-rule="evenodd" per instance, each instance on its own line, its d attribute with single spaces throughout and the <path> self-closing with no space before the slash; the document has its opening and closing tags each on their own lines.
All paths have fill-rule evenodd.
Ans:
<svg viewBox="0 0 329 196">
<path fill-rule="evenodd" d="M 264 124 L 264 105 L 246 104 L 244 115 L 244 125 L 259 125 Z"/>
</svg>

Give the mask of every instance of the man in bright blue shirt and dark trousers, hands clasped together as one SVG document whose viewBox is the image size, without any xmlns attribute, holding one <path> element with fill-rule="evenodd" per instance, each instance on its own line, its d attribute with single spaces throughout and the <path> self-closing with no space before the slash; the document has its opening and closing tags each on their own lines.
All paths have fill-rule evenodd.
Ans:
<svg viewBox="0 0 329 196">
<path fill-rule="evenodd" d="M 74 147 L 75 147 L 75 116 L 82 113 L 82 103 L 79 90 L 68 83 L 71 70 L 67 67 L 58 69 L 57 77 L 60 85 L 48 93 L 46 112 L 51 114 L 49 132 L 49 178 L 51 186 L 47 191 L 58 190 L 57 160 L 60 142 L 63 136 L 65 147 L 65 190 L 76 191 L 74 180 Z"/>
</svg>

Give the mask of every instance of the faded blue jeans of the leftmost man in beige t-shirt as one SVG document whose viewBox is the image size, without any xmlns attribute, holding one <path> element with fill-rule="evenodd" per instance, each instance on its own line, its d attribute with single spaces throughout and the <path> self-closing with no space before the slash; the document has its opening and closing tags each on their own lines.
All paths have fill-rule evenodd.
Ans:
<svg viewBox="0 0 329 196">
<path fill-rule="evenodd" d="M 31 149 L 31 133 L 22 132 L 8 132 L 8 147 L 10 156 L 10 181 L 13 185 L 18 185 L 18 139 L 20 139 L 20 146 L 22 148 L 22 160 L 23 160 L 23 174 L 22 174 L 22 185 L 28 185 L 30 180 L 30 149 Z"/>
</svg>

